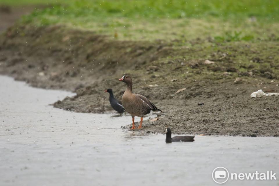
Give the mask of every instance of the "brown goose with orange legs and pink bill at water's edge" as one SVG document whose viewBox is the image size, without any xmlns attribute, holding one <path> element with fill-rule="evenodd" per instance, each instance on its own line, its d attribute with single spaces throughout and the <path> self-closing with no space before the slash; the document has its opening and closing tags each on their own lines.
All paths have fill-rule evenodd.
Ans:
<svg viewBox="0 0 279 186">
<path fill-rule="evenodd" d="M 130 76 L 123 76 L 118 81 L 123 81 L 127 84 L 126 91 L 122 96 L 122 104 L 125 110 L 132 115 L 133 127 L 135 129 L 135 116 L 140 117 L 140 126 L 142 128 L 142 120 L 144 117 L 148 117 L 153 111 L 160 111 L 153 103 L 151 103 L 146 97 L 140 94 L 132 94 L 133 82 Z"/>
</svg>

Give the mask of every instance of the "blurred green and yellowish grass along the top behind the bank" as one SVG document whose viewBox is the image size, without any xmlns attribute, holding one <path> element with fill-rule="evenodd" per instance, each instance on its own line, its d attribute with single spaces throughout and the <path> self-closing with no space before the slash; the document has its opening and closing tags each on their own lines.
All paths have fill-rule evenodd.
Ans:
<svg viewBox="0 0 279 186">
<path fill-rule="evenodd" d="M 12 6 L 42 5 L 24 24 L 64 24 L 124 40 L 264 39 L 279 31 L 278 0 L 1 0 Z"/>
</svg>

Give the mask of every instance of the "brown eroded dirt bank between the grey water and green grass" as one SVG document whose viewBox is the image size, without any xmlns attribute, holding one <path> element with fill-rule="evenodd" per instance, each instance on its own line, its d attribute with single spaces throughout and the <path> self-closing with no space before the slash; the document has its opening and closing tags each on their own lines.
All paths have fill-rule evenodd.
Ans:
<svg viewBox="0 0 279 186">
<path fill-rule="evenodd" d="M 92 113 L 112 111 L 104 90 L 112 88 L 120 99 L 126 87 L 117 79 L 130 74 L 133 92 L 164 111 L 158 120 L 144 122 L 147 133 L 169 126 L 178 134 L 279 135 L 279 96 L 249 97 L 259 89 L 279 90 L 279 46 L 273 36 L 255 43 L 179 43 L 112 40 L 60 25 L 17 25 L 1 35 L 0 73 L 35 87 L 75 91 L 54 106 Z M 181 88 L 186 89 L 175 94 Z"/>
</svg>

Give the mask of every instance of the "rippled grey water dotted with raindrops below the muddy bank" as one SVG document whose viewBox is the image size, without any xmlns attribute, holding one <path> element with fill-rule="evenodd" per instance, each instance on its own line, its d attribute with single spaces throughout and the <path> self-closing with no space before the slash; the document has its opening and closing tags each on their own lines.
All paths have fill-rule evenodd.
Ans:
<svg viewBox="0 0 279 186">
<path fill-rule="evenodd" d="M 130 116 L 48 105 L 71 95 L 0 76 L 0 185 L 217 185 L 212 171 L 219 166 L 277 173 L 275 181 L 226 185 L 279 185 L 279 138 L 196 136 L 165 144 L 161 134 L 123 131 Z"/>
</svg>

